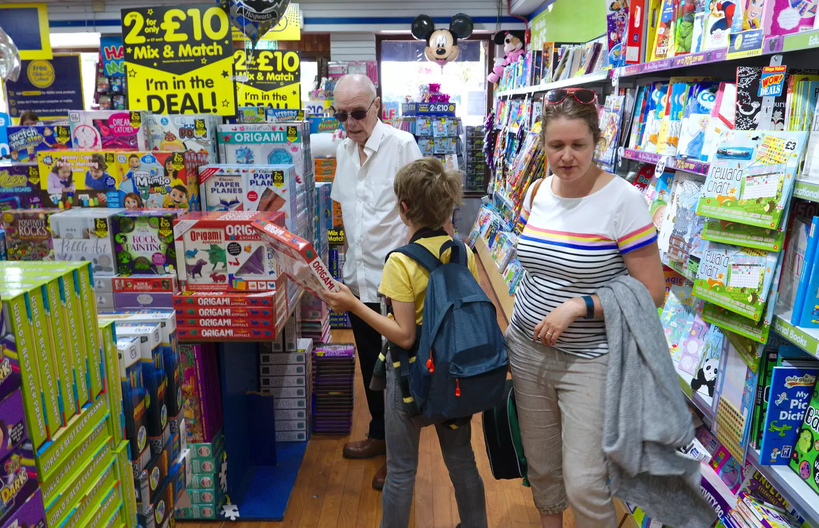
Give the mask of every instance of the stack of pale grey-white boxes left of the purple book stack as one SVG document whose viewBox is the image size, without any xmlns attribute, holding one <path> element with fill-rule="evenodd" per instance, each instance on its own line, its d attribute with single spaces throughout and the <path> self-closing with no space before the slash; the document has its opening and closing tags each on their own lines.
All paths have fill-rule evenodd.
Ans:
<svg viewBox="0 0 819 528">
<path fill-rule="evenodd" d="M 274 396 L 276 441 L 306 441 L 310 436 L 313 341 L 259 343 L 261 392 Z"/>
</svg>

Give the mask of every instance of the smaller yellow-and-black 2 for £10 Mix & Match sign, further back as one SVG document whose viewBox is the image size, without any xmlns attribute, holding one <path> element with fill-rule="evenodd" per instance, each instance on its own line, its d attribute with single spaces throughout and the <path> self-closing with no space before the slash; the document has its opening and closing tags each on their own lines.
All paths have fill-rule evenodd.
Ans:
<svg viewBox="0 0 819 528">
<path fill-rule="evenodd" d="M 298 51 L 237 49 L 233 59 L 239 106 L 301 108 Z"/>
</svg>

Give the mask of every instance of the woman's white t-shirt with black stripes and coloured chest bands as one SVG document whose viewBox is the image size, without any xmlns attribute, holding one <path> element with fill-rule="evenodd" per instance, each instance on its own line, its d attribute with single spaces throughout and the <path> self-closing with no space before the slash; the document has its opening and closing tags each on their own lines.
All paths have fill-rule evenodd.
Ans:
<svg viewBox="0 0 819 528">
<path fill-rule="evenodd" d="M 645 198 L 622 178 L 583 198 L 554 195 L 551 180 L 543 182 L 533 203 L 534 186 L 529 187 L 521 212 L 526 226 L 518 259 L 525 272 L 511 324 L 532 336 L 535 326 L 563 302 L 591 295 L 626 275 L 623 254 L 657 240 Z M 588 358 L 601 356 L 609 350 L 605 322 L 578 319 L 555 347 Z"/>
</svg>

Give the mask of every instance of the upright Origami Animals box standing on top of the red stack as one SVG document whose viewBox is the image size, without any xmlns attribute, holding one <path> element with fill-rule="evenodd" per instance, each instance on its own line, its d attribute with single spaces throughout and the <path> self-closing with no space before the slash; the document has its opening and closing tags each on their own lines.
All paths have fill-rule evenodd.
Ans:
<svg viewBox="0 0 819 528">
<path fill-rule="evenodd" d="M 273 250 L 251 223 L 284 225 L 283 213 L 190 213 L 174 221 L 179 286 L 191 291 L 276 289 Z"/>
</svg>

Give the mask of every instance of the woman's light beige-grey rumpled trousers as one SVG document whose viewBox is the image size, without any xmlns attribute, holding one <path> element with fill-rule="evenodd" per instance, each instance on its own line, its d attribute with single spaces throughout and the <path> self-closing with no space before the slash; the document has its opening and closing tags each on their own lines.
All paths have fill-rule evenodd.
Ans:
<svg viewBox="0 0 819 528">
<path fill-rule="evenodd" d="M 543 514 L 572 506 L 577 528 L 616 528 L 603 454 L 609 356 L 585 359 L 506 331 L 527 477 Z"/>
</svg>

